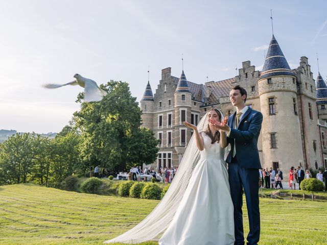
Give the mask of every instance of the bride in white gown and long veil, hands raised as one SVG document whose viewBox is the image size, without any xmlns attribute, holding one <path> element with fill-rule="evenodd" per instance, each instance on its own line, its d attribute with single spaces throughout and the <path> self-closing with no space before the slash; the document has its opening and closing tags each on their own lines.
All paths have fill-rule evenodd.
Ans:
<svg viewBox="0 0 327 245">
<path fill-rule="evenodd" d="M 224 132 L 212 127 L 211 118 L 222 121 L 223 116 L 212 109 L 198 127 L 184 123 L 194 134 L 165 197 L 141 223 L 106 243 L 159 238 L 159 245 L 234 244 L 233 204 L 224 161 L 227 140 Z"/>
</svg>

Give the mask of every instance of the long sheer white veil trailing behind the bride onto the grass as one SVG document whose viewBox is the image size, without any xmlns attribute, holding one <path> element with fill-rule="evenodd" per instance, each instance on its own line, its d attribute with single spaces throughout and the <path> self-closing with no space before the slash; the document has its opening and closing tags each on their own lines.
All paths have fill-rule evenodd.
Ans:
<svg viewBox="0 0 327 245">
<path fill-rule="evenodd" d="M 199 132 L 207 128 L 207 114 L 208 113 L 206 113 L 198 123 L 197 129 Z M 223 115 L 221 112 L 220 115 L 222 120 Z M 162 198 L 158 205 L 142 220 L 142 222 L 122 235 L 105 241 L 105 243 L 123 242 L 135 244 L 143 241 L 158 240 L 171 223 L 185 189 L 189 184 L 193 169 L 199 159 L 200 151 L 196 146 L 196 140 L 193 135 L 164 198 Z"/>
</svg>

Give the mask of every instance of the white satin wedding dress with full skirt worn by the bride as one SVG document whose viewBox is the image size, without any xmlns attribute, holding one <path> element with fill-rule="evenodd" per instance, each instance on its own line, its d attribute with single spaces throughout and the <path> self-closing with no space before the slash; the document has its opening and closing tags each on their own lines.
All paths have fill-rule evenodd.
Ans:
<svg viewBox="0 0 327 245">
<path fill-rule="evenodd" d="M 212 144 L 204 133 L 201 135 L 204 150 L 159 245 L 234 244 L 233 204 L 224 161 L 225 149 L 220 143 Z"/>
</svg>

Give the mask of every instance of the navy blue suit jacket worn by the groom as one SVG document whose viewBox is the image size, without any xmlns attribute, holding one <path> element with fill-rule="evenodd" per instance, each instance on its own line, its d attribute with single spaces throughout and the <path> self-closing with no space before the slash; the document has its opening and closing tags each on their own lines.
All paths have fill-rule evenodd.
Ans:
<svg viewBox="0 0 327 245">
<path fill-rule="evenodd" d="M 233 120 L 236 119 L 236 112 L 228 118 L 230 134 L 227 143 L 231 146 L 226 162 L 232 159 L 234 144 L 236 146 L 236 157 L 240 166 L 245 168 L 261 168 L 258 138 L 261 130 L 263 116 L 261 112 L 248 108 L 239 122 L 238 129 L 233 129 Z"/>
</svg>

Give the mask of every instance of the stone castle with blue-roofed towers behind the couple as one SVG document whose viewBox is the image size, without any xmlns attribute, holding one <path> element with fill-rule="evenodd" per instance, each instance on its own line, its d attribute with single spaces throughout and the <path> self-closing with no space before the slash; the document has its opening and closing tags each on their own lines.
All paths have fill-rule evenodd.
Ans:
<svg viewBox="0 0 327 245">
<path fill-rule="evenodd" d="M 212 108 L 225 116 L 235 112 L 229 92 L 236 85 L 246 89 L 246 105 L 263 114 L 258 141 L 263 167 L 281 168 L 284 179 L 291 166 L 327 167 L 327 86 L 320 73 L 313 79 L 307 57 L 290 69 L 274 36 L 262 71 L 245 61 L 238 76 L 203 85 L 186 80 L 184 71 L 179 79 L 172 76 L 168 67 L 161 70 L 154 95 L 148 82 L 140 104 L 143 126 L 153 130 L 160 141 L 153 166 L 180 163 L 193 133 L 183 121 L 197 125 Z"/>
</svg>

